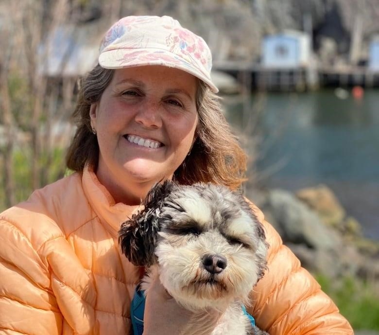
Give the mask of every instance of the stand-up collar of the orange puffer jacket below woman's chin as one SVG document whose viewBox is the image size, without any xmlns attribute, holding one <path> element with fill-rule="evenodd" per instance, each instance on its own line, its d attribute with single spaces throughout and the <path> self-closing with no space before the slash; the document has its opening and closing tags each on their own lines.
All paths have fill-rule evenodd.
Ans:
<svg viewBox="0 0 379 335">
<path fill-rule="evenodd" d="M 84 168 L 82 184 L 92 210 L 99 217 L 104 228 L 114 237 L 117 236 L 121 223 L 141 208 L 141 206 L 129 206 L 123 203 L 116 204 L 112 195 L 88 166 Z"/>
</svg>

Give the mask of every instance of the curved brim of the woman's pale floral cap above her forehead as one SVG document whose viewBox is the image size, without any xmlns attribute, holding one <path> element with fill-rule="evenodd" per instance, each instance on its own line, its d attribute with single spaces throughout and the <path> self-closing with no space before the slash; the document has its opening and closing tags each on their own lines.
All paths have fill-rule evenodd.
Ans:
<svg viewBox="0 0 379 335">
<path fill-rule="evenodd" d="M 182 57 L 159 49 L 113 49 L 103 51 L 99 56 L 99 64 L 104 69 L 123 69 L 146 65 L 161 65 L 179 69 L 202 80 L 213 93 L 219 89 L 205 73 L 194 68 Z"/>
</svg>

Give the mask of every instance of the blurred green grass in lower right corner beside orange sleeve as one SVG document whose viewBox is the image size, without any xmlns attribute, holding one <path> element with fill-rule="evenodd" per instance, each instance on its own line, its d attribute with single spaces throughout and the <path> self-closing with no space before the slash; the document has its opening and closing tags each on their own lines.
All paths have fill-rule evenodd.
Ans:
<svg viewBox="0 0 379 335">
<path fill-rule="evenodd" d="M 351 277 L 336 281 L 318 275 L 316 279 L 323 291 L 334 300 L 341 314 L 349 320 L 354 330 L 379 331 L 378 284 Z"/>
</svg>

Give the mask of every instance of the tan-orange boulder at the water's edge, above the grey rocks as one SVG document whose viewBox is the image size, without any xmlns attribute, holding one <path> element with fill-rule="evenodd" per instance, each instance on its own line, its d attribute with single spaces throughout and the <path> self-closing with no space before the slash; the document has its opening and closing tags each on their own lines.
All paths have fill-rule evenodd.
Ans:
<svg viewBox="0 0 379 335">
<path fill-rule="evenodd" d="M 325 185 L 302 189 L 296 196 L 316 211 L 329 226 L 338 228 L 345 217 L 345 210 L 337 197 Z"/>
</svg>

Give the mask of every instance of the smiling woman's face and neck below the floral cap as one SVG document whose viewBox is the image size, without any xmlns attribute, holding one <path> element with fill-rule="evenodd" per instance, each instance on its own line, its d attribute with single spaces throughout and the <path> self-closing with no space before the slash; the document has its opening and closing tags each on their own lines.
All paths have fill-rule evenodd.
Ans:
<svg viewBox="0 0 379 335">
<path fill-rule="evenodd" d="M 196 78 L 164 66 L 115 70 L 90 108 L 100 147 L 97 176 L 116 202 L 139 204 L 171 178 L 194 142 Z"/>
</svg>

